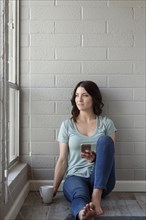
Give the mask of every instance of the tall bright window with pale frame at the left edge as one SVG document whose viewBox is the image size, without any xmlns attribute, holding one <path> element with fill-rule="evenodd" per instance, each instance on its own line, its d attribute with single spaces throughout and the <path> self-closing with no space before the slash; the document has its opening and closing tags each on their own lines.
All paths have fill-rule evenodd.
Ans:
<svg viewBox="0 0 146 220">
<path fill-rule="evenodd" d="M 8 163 L 19 156 L 19 1 L 8 5 Z"/>
</svg>

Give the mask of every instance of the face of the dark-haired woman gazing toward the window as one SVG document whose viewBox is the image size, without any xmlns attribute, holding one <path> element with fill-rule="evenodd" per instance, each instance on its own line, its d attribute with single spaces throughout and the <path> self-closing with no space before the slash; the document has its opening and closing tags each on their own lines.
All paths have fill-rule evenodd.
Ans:
<svg viewBox="0 0 146 220">
<path fill-rule="evenodd" d="M 92 96 L 83 88 L 78 87 L 75 94 L 75 103 L 80 111 L 89 111 L 93 109 Z"/>
</svg>

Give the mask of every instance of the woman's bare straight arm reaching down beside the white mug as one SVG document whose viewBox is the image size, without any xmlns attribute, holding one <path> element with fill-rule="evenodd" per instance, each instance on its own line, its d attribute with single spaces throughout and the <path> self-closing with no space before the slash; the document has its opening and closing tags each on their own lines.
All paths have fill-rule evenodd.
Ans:
<svg viewBox="0 0 146 220">
<path fill-rule="evenodd" d="M 60 154 L 56 163 L 55 173 L 54 173 L 54 196 L 63 180 L 64 174 L 67 169 L 68 163 L 68 144 L 59 143 Z"/>
</svg>

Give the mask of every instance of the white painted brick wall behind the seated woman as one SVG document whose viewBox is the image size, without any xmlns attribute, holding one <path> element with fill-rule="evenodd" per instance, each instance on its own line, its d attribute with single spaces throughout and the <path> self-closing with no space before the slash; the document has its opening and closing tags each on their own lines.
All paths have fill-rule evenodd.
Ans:
<svg viewBox="0 0 146 220">
<path fill-rule="evenodd" d="M 95 81 L 117 132 L 118 180 L 145 179 L 145 1 L 21 1 L 21 158 L 53 179 L 77 82 Z M 31 151 L 32 157 L 29 157 Z"/>
</svg>

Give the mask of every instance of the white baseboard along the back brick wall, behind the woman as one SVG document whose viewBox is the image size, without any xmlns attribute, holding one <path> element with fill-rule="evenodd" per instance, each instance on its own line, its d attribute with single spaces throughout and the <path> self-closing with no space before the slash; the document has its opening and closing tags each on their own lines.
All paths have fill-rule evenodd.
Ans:
<svg viewBox="0 0 146 220">
<path fill-rule="evenodd" d="M 53 185 L 53 180 L 30 180 L 30 191 L 37 191 L 41 185 Z M 61 183 L 59 191 L 62 191 Z M 146 192 L 146 181 L 117 181 L 115 192 Z"/>
</svg>

